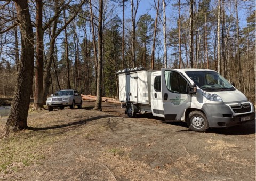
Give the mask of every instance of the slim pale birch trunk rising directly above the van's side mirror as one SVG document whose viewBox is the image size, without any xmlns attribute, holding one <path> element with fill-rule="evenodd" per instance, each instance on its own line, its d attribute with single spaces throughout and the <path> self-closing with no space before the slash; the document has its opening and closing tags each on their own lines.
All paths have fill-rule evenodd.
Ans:
<svg viewBox="0 0 256 181">
<path fill-rule="evenodd" d="M 193 0 L 190 0 L 189 10 L 189 60 L 190 67 L 193 68 Z"/>
</svg>

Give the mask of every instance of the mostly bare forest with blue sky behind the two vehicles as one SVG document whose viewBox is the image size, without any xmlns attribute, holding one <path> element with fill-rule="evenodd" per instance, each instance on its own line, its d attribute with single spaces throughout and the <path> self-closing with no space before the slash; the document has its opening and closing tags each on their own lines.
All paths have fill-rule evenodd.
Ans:
<svg viewBox="0 0 256 181">
<path fill-rule="evenodd" d="M 96 95 L 102 38 L 102 96 L 118 98 L 115 72 L 124 68 L 207 68 L 233 81 L 255 103 L 255 1 L 152 0 L 145 11 L 140 0 L 104 0 L 102 37 L 99 1 L 41 2 L 40 25 L 38 1 L 28 1 L 35 39 L 31 97 L 38 88 L 44 96 L 67 88 Z M 14 3 L 1 1 L 2 98 L 13 97 L 21 42 Z M 43 59 L 42 66 L 37 59 Z M 38 69 L 43 69 L 42 76 Z M 36 86 L 38 81 L 44 85 Z"/>
</svg>

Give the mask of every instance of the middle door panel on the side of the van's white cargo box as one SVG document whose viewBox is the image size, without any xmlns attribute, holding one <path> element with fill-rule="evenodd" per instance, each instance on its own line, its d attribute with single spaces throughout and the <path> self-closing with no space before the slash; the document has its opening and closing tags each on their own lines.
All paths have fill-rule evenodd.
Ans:
<svg viewBox="0 0 256 181">
<path fill-rule="evenodd" d="M 138 102 L 137 73 L 127 74 L 127 99 Z"/>
</svg>

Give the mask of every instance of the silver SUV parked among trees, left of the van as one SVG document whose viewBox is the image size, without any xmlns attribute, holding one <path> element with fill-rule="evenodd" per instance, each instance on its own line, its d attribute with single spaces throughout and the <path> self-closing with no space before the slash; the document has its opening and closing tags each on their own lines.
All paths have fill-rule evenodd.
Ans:
<svg viewBox="0 0 256 181">
<path fill-rule="evenodd" d="M 73 109 L 75 105 L 80 109 L 82 108 L 82 97 L 78 91 L 72 89 L 60 90 L 47 98 L 46 105 L 49 111 L 52 111 L 53 108 L 64 109 L 67 106 Z"/>
</svg>

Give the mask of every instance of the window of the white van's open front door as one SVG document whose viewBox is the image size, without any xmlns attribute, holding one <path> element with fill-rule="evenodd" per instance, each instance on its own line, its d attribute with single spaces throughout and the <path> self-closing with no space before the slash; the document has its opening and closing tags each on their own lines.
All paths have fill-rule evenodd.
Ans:
<svg viewBox="0 0 256 181">
<path fill-rule="evenodd" d="M 187 94 L 187 81 L 177 72 L 165 71 L 165 83 L 170 92 Z"/>
</svg>

